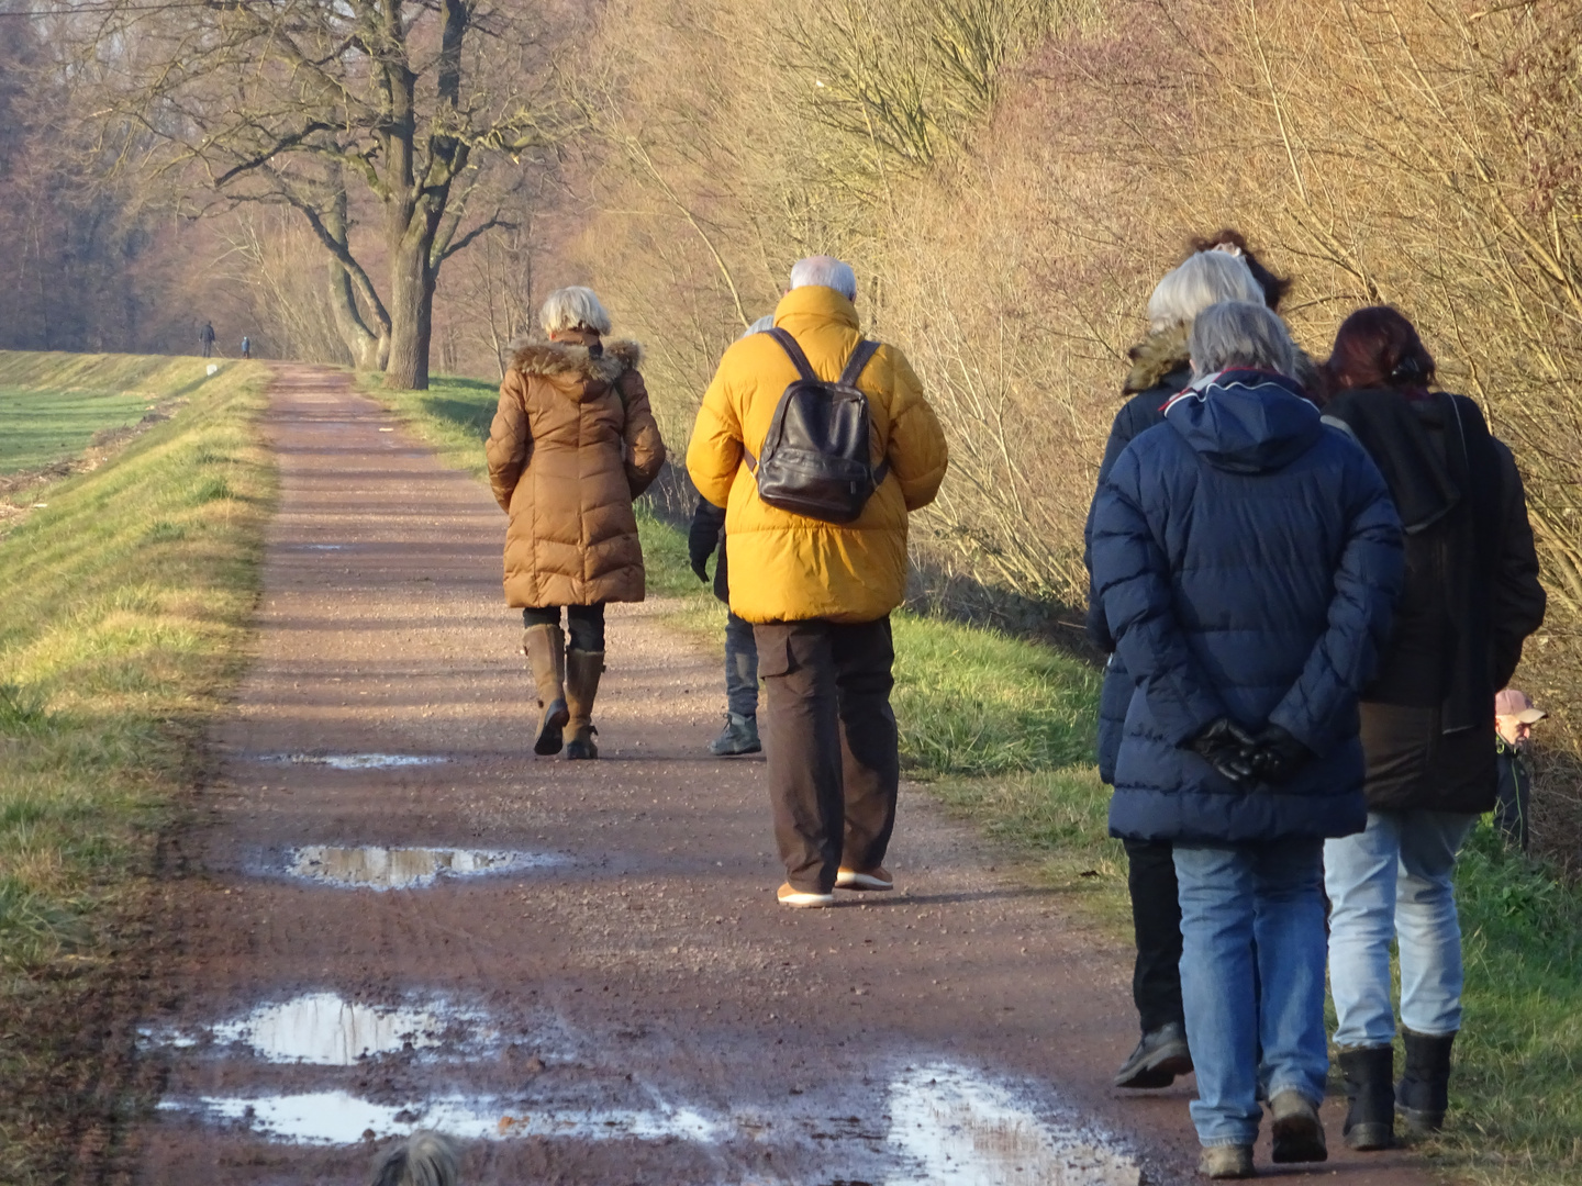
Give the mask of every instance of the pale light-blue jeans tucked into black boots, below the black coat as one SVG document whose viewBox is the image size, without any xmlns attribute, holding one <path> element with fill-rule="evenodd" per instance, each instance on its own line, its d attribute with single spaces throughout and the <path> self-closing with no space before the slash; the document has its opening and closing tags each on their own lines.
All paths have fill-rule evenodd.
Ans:
<svg viewBox="0 0 1582 1186">
<path fill-rule="evenodd" d="M 1451 873 L 1478 816 L 1368 811 L 1368 830 L 1324 844 L 1335 1045 L 1389 1045 L 1389 944 L 1400 939 L 1400 1022 L 1419 1034 L 1462 1028 L 1462 928 Z"/>
</svg>

